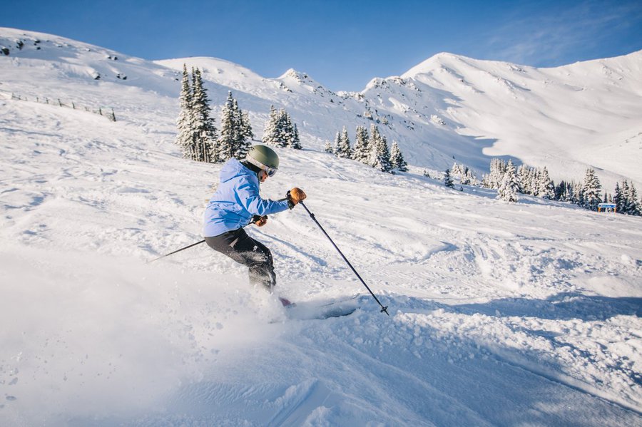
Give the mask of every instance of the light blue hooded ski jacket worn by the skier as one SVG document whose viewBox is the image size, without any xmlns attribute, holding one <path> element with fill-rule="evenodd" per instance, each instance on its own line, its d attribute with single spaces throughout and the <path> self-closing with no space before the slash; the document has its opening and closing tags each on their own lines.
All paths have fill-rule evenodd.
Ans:
<svg viewBox="0 0 642 427">
<path fill-rule="evenodd" d="M 253 215 L 287 210 L 287 200 L 265 200 L 252 170 L 231 158 L 220 170 L 220 185 L 203 215 L 203 237 L 214 237 L 250 224 Z"/>
</svg>

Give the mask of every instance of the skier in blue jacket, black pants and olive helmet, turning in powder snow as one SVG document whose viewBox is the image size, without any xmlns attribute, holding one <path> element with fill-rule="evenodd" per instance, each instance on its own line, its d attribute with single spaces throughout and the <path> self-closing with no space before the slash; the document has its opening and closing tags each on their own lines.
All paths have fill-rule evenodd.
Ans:
<svg viewBox="0 0 642 427">
<path fill-rule="evenodd" d="M 274 176 L 279 156 L 265 145 L 254 145 L 242 162 L 230 158 L 220 170 L 220 185 L 204 215 L 203 236 L 209 247 L 249 267 L 250 284 L 269 292 L 276 285 L 272 253 L 254 240 L 243 227 L 254 223 L 263 227 L 267 215 L 292 209 L 305 199 L 305 192 L 294 187 L 285 199 L 265 200 L 259 195 L 260 182 Z M 283 305 L 290 302 L 280 298 Z"/>
</svg>

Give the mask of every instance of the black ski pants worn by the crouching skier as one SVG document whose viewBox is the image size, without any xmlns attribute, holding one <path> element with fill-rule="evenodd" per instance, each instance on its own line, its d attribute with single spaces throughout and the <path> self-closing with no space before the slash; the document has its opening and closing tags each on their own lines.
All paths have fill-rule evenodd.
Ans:
<svg viewBox="0 0 642 427">
<path fill-rule="evenodd" d="M 276 285 L 274 261 L 270 249 L 248 236 L 243 228 L 228 231 L 215 237 L 205 237 L 205 243 L 215 251 L 248 266 L 250 284 L 260 284 L 268 291 L 271 291 L 272 287 Z"/>
</svg>

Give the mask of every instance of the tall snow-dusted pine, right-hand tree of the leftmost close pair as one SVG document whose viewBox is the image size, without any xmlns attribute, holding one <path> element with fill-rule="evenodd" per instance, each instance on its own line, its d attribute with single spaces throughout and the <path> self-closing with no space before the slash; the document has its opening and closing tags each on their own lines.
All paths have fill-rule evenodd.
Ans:
<svg viewBox="0 0 642 427">
<path fill-rule="evenodd" d="M 192 160 L 199 162 L 215 162 L 216 128 L 214 119 L 210 117 L 210 100 L 207 89 L 203 86 L 200 70 L 192 73 L 192 114 L 193 114 L 193 145 Z"/>
</svg>

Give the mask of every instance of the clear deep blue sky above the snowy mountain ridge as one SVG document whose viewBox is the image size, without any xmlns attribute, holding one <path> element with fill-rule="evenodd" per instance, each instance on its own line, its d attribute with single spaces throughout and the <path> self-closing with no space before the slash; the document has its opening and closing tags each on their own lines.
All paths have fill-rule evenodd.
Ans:
<svg viewBox="0 0 642 427">
<path fill-rule="evenodd" d="M 146 59 L 215 56 L 361 91 L 439 52 L 559 66 L 642 49 L 642 0 L 2 0 L 0 26 Z"/>
</svg>

